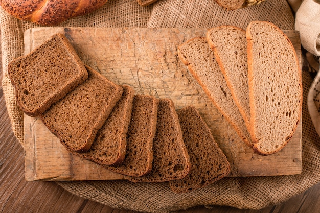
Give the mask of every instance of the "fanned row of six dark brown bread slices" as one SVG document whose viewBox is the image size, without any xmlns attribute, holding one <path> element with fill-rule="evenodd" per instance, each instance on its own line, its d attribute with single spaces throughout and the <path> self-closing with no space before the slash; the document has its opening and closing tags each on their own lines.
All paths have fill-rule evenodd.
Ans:
<svg viewBox="0 0 320 213">
<path fill-rule="evenodd" d="M 20 108 L 39 116 L 72 154 L 128 176 L 169 181 L 176 193 L 211 184 L 230 164 L 193 106 L 134 94 L 83 64 L 56 34 L 8 65 Z"/>
</svg>

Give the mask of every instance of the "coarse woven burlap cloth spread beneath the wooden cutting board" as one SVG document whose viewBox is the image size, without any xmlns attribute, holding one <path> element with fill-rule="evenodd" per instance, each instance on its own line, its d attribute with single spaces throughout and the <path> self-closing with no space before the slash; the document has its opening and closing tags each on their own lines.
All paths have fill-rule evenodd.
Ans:
<svg viewBox="0 0 320 213">
<path fill-rule="evenodd" d="M 136 0 L 110 0 L 92 14 L 63 22 L 64 27 L 180 27 L 210 28 L 236 25 L 246 28 L 252 20 L 266 20 L 282 29 L 294 29 L 294 17 L 285 0 L 268 0 L 256 6 L 227 11 L 205 0 L 159 0 L 143 8 Z M 0 10 L 3 90 L 13 131 L 24 145 L 23 116 L 18 110 L 7 66 L 24 53 L 24 30 L 36 27 L 19 21 Z M 305 66 L 303 66 L 305 67 Z M 303 68 L 304 70 L 304 68 Z M 280 203 L 305 191 L 320 180 L 320 138 L 311 122 L 306 94 L 312 78 L 303 71 L 302 173 L 292 176 L 223 178 L 214 184 L 187 194 L 174 194 L 167 183 L 131 183 L 129 181 L 58 182 L 67 191 L 111 206 L 136 211 L 168 212 L 197 205 L 228 205 L 260 209 Z"/>
</svg>

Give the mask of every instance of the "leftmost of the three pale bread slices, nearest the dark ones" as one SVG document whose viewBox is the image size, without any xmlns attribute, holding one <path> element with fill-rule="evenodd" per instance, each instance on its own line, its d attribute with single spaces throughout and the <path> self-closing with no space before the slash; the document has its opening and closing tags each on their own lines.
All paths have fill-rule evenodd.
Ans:
<svg viewBox="0 0 320 213">
<path fill-rule="evenodd" d="M 250 147 L 253 143 L 207 39 L 192 38 L 178 46 L 178 56 L 221 114 Z"/>
</svg>

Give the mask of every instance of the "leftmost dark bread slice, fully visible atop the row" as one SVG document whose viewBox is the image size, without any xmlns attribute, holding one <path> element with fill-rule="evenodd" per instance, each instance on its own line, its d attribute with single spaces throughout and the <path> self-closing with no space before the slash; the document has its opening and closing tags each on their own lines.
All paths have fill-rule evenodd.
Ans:
<svg viewBox="0 0 320 213">
<path fill-rule="evenodd" d="M 8 65 L 21 110 L 38 116 L 85 81 L 87 70 L 63 34 L 56 34 Z"/>
</svg>

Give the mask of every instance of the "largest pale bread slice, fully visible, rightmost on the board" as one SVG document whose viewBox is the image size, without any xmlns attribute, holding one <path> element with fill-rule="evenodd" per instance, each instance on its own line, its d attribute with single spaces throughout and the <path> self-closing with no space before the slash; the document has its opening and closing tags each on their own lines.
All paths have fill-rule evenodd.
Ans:
<svg viewBox="0 0 320 213">
<path fill-rule="evenodd" d="M 301 69 L 288 37 L 270 22 L 250 22 L 248 80 L 249 132 L 254 151 L 269 155 L 280 151 L 298 126 L 302 109 Z"/>
</svg>

